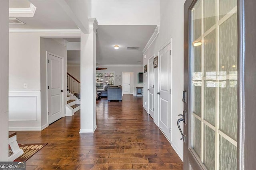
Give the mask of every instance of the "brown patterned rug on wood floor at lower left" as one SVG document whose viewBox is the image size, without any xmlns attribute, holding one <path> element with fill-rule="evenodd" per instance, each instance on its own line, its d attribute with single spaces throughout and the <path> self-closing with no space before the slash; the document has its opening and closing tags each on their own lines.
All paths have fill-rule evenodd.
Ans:
<svg viewBox="0 0 256 170">
<path fill-rule="evenodd" d="M 15 162 L 23 162 L 28 160 L 31 156 L 33 156 L 36 152 L 42 149 L 47 143 L 26 143 L 26 144 L 18 144 L 20 149 L 23 150 L 24 154 L 20 155 Z M 13 152 L 9 146 L 9 156 L 12 155 Z"/>
</svg>

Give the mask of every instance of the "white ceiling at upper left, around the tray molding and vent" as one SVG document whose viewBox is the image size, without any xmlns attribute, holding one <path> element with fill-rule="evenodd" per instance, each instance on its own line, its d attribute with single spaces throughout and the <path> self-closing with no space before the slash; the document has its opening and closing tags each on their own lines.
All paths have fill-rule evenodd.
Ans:
<svg viewBox="0 0 256 170">
<path fill-rule="evenodd" d="M 9 25 L 10 28 L 78 29 L 57 1 L 30 0 L 30 2 L 36 6 L 34 17 L 16 17 L 26 25 L 11 24 Z M 14 0 L 10 4 L 13 7 L 21 8 L 20 6 L 24 7 L 26 1 Z"/>
</svg>

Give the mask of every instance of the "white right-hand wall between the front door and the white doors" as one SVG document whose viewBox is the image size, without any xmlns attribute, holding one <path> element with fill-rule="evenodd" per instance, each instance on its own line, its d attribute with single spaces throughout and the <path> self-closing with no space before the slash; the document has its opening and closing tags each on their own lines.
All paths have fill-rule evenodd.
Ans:
<svg viewBox="0 0 256 170">
<path fill-rule="evenodd" d="M 144 65 L 148 59 L 158 55 L 158 50 L 172 38 L 172 116 L 171 116 L 171 145 L 183 160 L 183 141 L 177 127 L 178 114 L 182 114 L 183 91 L 183 5 L 185 0 L 160 1 L 160 33 L 149 49 L 144 53 Z M 155 77 L 157 75 L 155 74 Z M 148 88 L 148 80 L 144 76 L 144 90 Z M 156 82 L 156 81 L 155 81 Z M 154 95 L 157 96 L 157 95 Z M 144 93 L 144 104 L 148 96 Z M 156 102 L 155 102 L 156 103 Z M 144 106 L 148 107 L 148 106 Z M 171 113 L 170 113 L 171 114 Z M 182 124 L 181 124 L 181 127 Z M 183 129 L 183 128 L 182 128 Z"/>
</svg>

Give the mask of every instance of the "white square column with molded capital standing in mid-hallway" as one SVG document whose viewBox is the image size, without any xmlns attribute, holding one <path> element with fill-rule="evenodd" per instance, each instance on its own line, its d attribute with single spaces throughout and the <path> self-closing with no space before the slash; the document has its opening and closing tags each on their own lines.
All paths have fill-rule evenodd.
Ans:
<svg viewBox="0 0 256 170">
<path fill-rule="evenodd" d="M 81 109 L 80 133 L 93 133 L 96 125 L 96 29 L 98 22 L 89 18 L 90 33 L 81 32 Z"/>
</svg>

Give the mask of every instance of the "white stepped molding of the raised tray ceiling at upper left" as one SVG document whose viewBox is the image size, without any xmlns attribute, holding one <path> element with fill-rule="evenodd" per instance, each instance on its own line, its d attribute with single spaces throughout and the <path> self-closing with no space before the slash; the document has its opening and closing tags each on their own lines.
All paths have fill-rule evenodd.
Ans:
<svg viewBox="0 0 256 170">
<path fill-rule="evenodd" d="M 9 8 L 9 17 L 34 17 L 36 6 L 30 3 L 29 8 Z"/>
</svg>

